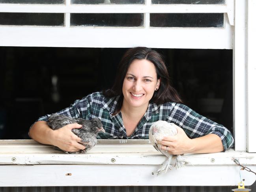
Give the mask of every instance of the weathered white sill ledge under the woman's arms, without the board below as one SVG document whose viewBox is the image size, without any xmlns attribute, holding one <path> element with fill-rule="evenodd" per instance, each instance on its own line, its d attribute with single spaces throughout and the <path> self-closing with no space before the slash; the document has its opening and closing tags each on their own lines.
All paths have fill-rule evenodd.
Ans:
<svg viewBox="0 0 256 192">
<path fill-rule="evenodd" d="M 189 165 L 256 165 L 256 153 L 185 154 Z M 114 159 L 114 160 L 113 160 Z M 148 140 L 99 140 L 86 154 L 65 154 L 34 140 L 0 140 L 0 164 L 136 164 L 160 165 L 166 157 Z"/>
</svg>

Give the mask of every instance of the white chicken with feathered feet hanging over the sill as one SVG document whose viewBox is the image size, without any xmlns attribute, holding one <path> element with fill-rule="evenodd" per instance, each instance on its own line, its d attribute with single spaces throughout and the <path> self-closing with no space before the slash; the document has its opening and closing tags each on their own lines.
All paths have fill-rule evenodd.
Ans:
<svg viewBox="0 0 256 192">
<path fill-rule="evenodd" d="M 149 129 L 149 140 L 153 147 L 163 153 L 168 159 L 163 163 L 163 165 L 156 171 L 157 175 L 161 173 L 166 173 L 168 169 L 172 168 L 170 164 L 172 157 L 174 157 L 174 167 L 180 168 L 183 167 L 187 162 L 183 160 L 181 155 L 171 155 L 170 153 L 161 149 L 161 144 L 157 143 L 161 141 L 165 136 L 174 136 L 177 134 L 177 129 L 174 126 L 174 123 L 168 123 L 166 121 L 156 121 L 153 123 Z M 153 174 L 153 173 L 152 173 Z"/>
</svg>

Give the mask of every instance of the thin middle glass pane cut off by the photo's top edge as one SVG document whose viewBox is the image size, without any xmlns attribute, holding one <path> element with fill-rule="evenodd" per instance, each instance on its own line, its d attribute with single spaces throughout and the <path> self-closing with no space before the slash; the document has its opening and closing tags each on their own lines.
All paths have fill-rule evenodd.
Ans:
<svg viewBox="0 0 256 192">
<path fill-rule="evenodd" d="M 145 0 L 71 0 L 71 4 L 145 4 Z"/>
</svg>

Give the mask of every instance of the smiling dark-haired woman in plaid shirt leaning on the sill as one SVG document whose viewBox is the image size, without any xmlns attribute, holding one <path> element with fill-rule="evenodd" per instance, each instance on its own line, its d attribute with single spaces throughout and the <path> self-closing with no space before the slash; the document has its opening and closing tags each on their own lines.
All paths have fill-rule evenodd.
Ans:
<svg viewBox="0 0 256 192">
<path fill-rule="evenodd" d="M 98 138 L 148 138 L 151 124 L 158 120 L 175 123 L 178 134 L 159 143 L 170 154 L 215 153 L 232 147 L 234 139 L 228 129 L 200 116 L 182 104 L 170 85 L 162 56 L 146 47 L 129 49 L 121 59 L 116 80 L 111 89 L 92 93 L 58 112 L 72 117 L 99 117 L 105 133 Z M 32 125 L 29 135 L 42 144 L 51 144 L 64 151 L 84 149 L 70 124 L 58 130 L 47 126 L 47 116 Z"/>
</svg>

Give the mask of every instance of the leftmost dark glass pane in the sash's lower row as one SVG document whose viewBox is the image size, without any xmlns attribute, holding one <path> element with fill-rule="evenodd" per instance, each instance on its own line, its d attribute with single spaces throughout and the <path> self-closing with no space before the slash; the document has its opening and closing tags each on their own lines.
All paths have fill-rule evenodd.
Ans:
<svg viewBox="0 0 256 192">
<path fill-rule="evenodd" d="M 64 13 L 0 13 L 0 25 L 64 26 Z"/>
</svg>

